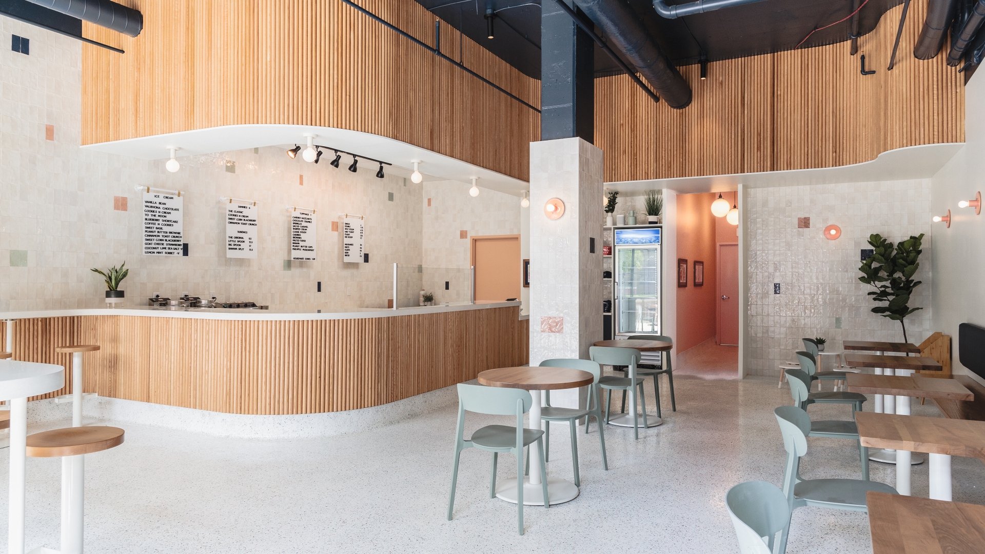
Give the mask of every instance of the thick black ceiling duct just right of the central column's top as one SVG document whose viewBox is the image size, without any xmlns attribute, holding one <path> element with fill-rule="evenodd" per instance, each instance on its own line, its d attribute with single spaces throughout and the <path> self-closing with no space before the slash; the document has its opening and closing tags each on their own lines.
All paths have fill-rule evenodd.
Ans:
<svg viewBox="0 0 985 554">
<path fill-rule="evenodd" d="M 985 0 L 982 0 L 985 1 Z M 674 109 L 690 104 L 690 85 L 623 0 L 574 0 Z"/>
</svg>

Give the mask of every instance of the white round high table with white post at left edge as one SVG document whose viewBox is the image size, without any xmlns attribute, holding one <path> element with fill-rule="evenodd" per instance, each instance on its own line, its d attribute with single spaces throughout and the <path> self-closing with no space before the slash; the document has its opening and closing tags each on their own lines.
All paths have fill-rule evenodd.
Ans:
<svg viewBox="0 0 985 554">
<path fill-rule="evenodd" d="M 10 507 L 7 548 L 24 552 L 24 468 L 28 452 L 28 397 L 65 386 L 65 368 L 8 361 L 0 371 L 0 399 L 10 404 Z"/>
</svg>

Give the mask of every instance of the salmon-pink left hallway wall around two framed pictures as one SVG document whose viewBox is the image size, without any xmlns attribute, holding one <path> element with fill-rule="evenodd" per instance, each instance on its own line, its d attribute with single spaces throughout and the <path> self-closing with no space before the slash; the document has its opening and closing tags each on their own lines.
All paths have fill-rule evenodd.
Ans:
<svg viewBox="0 0 985 554">
<path fill-rule="evenodd" d="M 676 281 L 667 285 L 672 290 L 677 288 L 677 336 L 673 338 L 679 353 L 715 336 L 715 249 L 719 218 L 711 214 L 711 203 L 717 197 L 710 192 L 677 196 L 677 258 L 688 260 L 688 287 L 677 288 Z M 728 230 L 724 231 L 727 235 Z M 667 263 L 676 267 L 677 258 L 668 259 Z M 694 286 L 694 260 L 704 262 L 703 287 Z"/>
</svg>

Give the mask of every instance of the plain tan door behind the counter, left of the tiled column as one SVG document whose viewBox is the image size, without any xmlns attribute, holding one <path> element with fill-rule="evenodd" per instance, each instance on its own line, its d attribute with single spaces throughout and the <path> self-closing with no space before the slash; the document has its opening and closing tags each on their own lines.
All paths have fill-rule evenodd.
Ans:
<svg viewBox="0 0 985 554">
<path fill-rule="evenodd" d="M 476 300 L 520 298 L 520 236 L 472 238 Z"/>
</svg>

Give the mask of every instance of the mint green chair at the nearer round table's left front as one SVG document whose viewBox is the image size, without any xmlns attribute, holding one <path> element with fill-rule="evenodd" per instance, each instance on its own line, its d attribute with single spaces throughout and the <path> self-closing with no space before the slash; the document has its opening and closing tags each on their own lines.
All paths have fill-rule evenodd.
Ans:
<svg viewBox="0 0 985 554">
<path fill-rule="evenodd" d="M 458 459 L 462 450 L 476 448 L 493 452 L 493 472 L 490 479 L 490 498 L 495 498 L 495 465 L 499 452 L 516 456 L 516 518 L 523 534 L 523 449 L 537 443 L 541 461 L 541 484 L 544 487 L 544 508 L 550 508 L 548 470 L 544 463 L 543 431 L 523 428 L 523 414 L 530 411 L 534 398 L 522 388 L 496 388 L 480 384 L 458 384 L 458 427 L 455 429 L 455 465 L 451 470 L 451 493 L 448 496 L 448 520 L 455 509 L 455 485 L 458 483 Z M 465 412 L 491 415 L 515 415 L 516 427 L 487 425 L 477 429 L 465 440 Z"/>
</svg>

